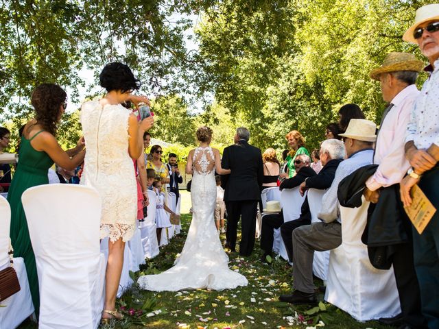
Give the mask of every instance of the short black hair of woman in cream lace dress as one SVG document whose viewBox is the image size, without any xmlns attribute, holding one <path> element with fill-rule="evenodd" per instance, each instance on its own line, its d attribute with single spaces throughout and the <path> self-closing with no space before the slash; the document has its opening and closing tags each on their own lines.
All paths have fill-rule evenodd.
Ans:
<svg viewBox="0 0 439 329">
<path fill-rule="evenodd" d="M 134 77 L 127 64 L 112 62 L 106 64 L 99 74 L 99 84 L 107 90 L 121 90 L 126 93 L 128 90 L 139 90 L 140 80 Z"/>
</svg>

